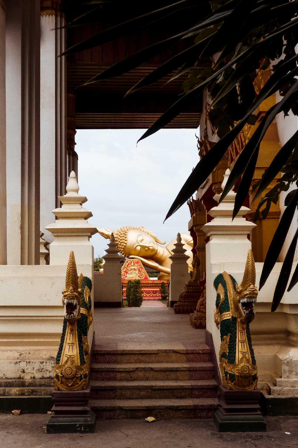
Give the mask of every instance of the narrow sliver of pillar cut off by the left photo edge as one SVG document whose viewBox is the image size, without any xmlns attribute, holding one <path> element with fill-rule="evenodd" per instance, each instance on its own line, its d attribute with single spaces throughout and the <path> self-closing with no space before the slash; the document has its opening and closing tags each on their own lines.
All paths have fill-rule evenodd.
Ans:
<svg viewBox="0 0 298 448">
<path fill-rule="evenodd" d="M 0 0 L 0 264 L 6 264 L 5 7 Z"/>
</svg>

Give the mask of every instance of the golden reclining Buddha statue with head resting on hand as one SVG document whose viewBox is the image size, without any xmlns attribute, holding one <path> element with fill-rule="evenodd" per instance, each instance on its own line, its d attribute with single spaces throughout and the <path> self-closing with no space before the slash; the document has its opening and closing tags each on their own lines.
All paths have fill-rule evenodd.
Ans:
<svg viewBox="0 0 298 448">
<path fill-rule="evenodd" d="M 99 227 L 97 230 L 106 239 L 109 239 L 113 232 L 119 252 L 127 258 L 136 258 L 143 265 L 159 271 L 159 280 L 168 280 L 170 278 L 172 262 L 169 257 L 173 254 L 172 250 L 177 242 L 176 238 L 170 241 L 167 246 L 161 246 L 166 244 L 166 241 L 160 241 L 154 233 L 143 226 L 125 226 L 117 230 Z M 193 253 L 191 250 L 193 248 L 193 238 L 187 232 L 180 235 L 181 242 L 186 249 L 185 255 L 189 256 L 187 260 L 189 271 L 192 271 Z"/>
</svg>

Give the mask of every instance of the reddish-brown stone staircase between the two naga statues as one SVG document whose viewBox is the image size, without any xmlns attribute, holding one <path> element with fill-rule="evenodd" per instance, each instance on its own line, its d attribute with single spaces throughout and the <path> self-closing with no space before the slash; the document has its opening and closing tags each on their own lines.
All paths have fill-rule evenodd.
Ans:
<svg viewBox="0 0 298 448">
<path fill-rule="evenodd" d="M 98 419 L 212 418 L 218 406 L 210 348 L 95 348 L 91 407 Z"/>
</svg>

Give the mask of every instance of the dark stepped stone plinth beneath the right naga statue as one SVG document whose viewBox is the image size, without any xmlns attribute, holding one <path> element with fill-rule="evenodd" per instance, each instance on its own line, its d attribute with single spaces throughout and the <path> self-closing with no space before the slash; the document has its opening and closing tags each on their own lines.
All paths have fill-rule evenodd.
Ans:
<svg viewBox="0 0 298 448">
<path fill-rule="evenodd" d="M 220 432 L 266 431 L 266 422 L 260 413 L 260 391 L 231 391 L 218 387 L 218 410 L 214 425 Z"/>
</svg>

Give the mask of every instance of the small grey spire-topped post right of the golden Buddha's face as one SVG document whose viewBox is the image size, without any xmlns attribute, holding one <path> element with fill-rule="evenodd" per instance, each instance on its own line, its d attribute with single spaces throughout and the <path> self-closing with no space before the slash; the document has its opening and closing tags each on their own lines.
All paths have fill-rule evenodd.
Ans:
<svg viewBox="0 0 298 448">
<path fill-rule="evenodd" d="M 174 306 L 178 302 L 179 296 L 184 291 L 184 286 L 187 281 L 190 280 L 189 265 L 187 260 L 188 255 L 185 255 L 185 248 L 181 242 L 180 233 L 177 235 L 177 242 L 174 244 L 175 249 L 172 250 L 171 255 L 171 273 L 170 273 L 170 296 L 169 306 Z"/>
</svg>

